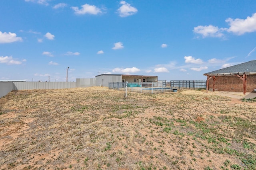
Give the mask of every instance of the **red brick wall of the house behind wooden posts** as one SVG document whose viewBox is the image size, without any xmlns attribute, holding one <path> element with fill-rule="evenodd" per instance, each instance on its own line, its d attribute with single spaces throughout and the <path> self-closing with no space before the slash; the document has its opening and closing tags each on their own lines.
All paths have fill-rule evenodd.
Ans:
<svg viewBox="0 0 256 170">
<path fill-rule="evenodd" d="M 215 90 L 230 91 L 230 92 L 243 92 L 243 80 L 237 76 L 216 76 Z M 215 79 L 216 79 L 215 78 Z M 209 80 L 209 90 L 213 88 L 213 79 Z M 256 89 L 256 75 L 247 76 L 246 92 L 253 92 Z"/>
</svg>

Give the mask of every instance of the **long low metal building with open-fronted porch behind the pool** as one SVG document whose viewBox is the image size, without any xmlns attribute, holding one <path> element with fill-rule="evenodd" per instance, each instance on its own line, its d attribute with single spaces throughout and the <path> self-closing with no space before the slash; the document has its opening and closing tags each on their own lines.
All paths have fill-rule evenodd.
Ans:
<svg viewBox="0 0 256 170">
<path fill-rule="evenodd" d="M 127 74 L 100 74 L 96 77 L 96 86 L 108 87 L 109 82 L 157 82 L 158 76 L 142 76 L 142 75 L 127 75 Z"/>
</svg>

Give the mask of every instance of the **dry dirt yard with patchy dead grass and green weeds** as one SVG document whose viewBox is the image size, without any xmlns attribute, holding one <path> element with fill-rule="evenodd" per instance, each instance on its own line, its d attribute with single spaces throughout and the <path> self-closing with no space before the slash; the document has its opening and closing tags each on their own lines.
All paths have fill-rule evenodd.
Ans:
<svg viewBox="0 0 256 170">
<path fill-rule="evenodd" d="M 256 104 L 199 90 L 20 90 L 0 99 L 0 169 L 255 170 Z"/>
</svg>

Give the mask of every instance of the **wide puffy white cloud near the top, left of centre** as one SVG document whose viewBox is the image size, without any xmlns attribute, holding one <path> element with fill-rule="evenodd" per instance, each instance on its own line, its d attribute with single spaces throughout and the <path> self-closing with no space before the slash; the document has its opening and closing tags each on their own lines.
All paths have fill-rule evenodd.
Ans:
<svg viewBox="0 0 256 170">
<path fill-rule="evenodd" d="M 89 5 L 89 4 L 82 5 L 81 9 L 79 9 L 77 6 L 73 6 L 71 8 L 74 10 L 75 14 L 78 14 L 78 15 L 82 15 L 82 14 L 97 15 L 97 14 L 102 13 L 100 8 L 97 8 L 96 6 Z"/>
</svg>

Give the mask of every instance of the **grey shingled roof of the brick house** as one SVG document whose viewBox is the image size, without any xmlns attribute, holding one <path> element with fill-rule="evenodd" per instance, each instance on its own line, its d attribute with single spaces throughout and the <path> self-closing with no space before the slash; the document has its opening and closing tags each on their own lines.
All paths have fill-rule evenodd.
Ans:
<svg viewBox="0 0 256 170">
<path fill-rule="evenodd" d="M 235 74 L 256 74 L 256 60 L 204 73 L 205 76 L 229 76 Z"/>
</svg>

